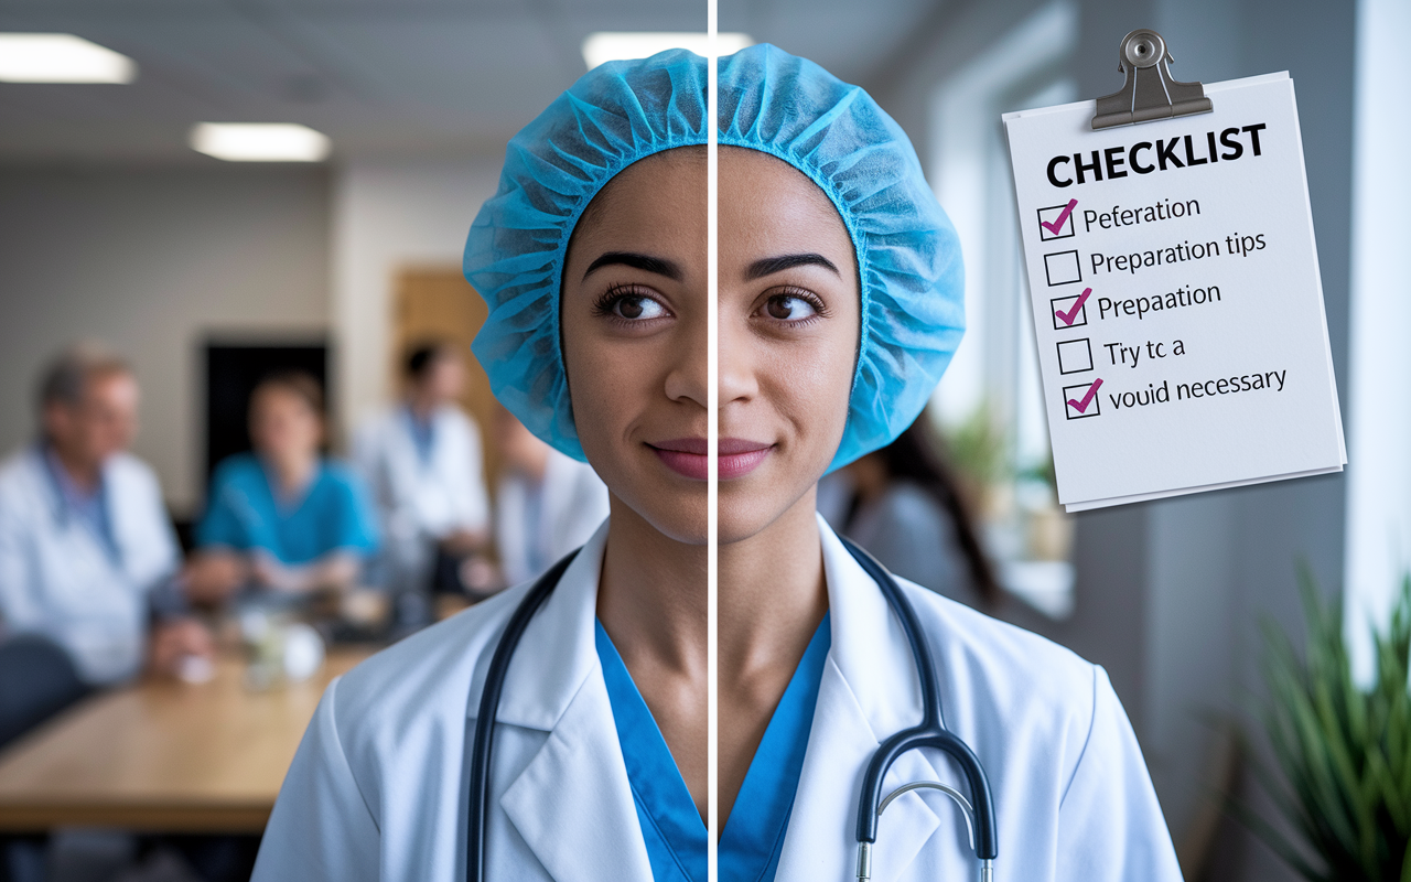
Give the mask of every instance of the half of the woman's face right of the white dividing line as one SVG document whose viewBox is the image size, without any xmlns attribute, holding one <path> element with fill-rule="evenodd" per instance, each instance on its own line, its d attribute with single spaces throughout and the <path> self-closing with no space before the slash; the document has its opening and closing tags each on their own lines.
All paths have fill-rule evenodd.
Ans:
<svg viewBox="0 0 1411 882">
<path fill-rule="evenodd" d="M 803 502 L 842 440 L 861 329 L 852 240 L 792 165 L 720 151 L 720 542 Z"/>
</svg>

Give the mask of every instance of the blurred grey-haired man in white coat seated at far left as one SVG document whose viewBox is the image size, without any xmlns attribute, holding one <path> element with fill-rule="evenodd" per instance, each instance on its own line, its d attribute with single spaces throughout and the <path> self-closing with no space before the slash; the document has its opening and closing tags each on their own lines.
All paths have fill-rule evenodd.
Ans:
<svg viewBox="0 0 1411 882">
<path fill-rule="evenodd" d="M 131 370 L 73 347 L 47 368 L 38 402 L 41 439 L 0 466 L 0 632 L 54 641 L 89 686 L 126 680 L 144 662 L 168 673 L 209 663 L 210 635 L 183 615 L 181 550 L 157 476 L 127 452 Z"/>
</svg>

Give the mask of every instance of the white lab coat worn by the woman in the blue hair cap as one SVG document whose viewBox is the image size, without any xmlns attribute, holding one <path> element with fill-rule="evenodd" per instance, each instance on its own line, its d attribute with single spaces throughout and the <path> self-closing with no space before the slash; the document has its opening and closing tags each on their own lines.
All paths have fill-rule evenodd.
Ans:
<svg viewBox="0 0 1411 882">
<path fill-rule="evenodd" d="M 864 766 L 882 738 L 920 718 L 896 618 L 821 519 L 820 528 L 832 648 L 780 881 L 854 878 Z M 491 776 L 490 879 L 652 881 L 594 648 L 604 539 L 600 529 L 564 573 L 509 667 Z M 995 878 L 1180 879 L 1136 738 L 1103 672 L 903 586 L 937 655 L 947 721 L 993 785 Z M 466 878 L 470 735 L 490 656 L 526 590 L 422 631 L 329 686 L 265 828 L 255 882 Z M 886 786 L 916 779 L 958 783 L 947 761 L 907 754 Z M 875 879 L 975 878 L 964 824 L 944 799 L 913 792 L 886 810 Z"/>
</svg>

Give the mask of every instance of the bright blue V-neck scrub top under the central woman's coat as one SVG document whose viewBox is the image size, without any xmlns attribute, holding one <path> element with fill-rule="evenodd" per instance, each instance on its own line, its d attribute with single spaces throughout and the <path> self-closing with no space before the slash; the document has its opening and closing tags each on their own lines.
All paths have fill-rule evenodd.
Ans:
<svg viewBox="0 0 1411 882">
<path fill-rule="evenodd" d="M 831 645 L 828 614 L 824 614 L 779 699 L 725 821 L 718 851 L 722 882 L 772 882 L 775 878 Z M 706 824 L 602 622 L 597 622 L 597 646 L 652 879 L 706 882 Z"/>
</svg>

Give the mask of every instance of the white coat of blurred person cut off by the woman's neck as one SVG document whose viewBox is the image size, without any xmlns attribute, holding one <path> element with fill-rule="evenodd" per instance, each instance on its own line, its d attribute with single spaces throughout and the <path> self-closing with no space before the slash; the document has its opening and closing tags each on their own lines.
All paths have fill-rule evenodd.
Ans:
<svg viewBox="0 0 1411 882">
<path fill-rule="evenodd" d="M 497 490 L 495 549 L 509 584 L 549 569 L 587 542 L 608 516 L 608 488 L 598 473 L 557 450 L 549 450 L 539 487 L 516 471 L 507 471 Z M 532 504 L 535 493 L 538 508 Z"/>
</svg>

